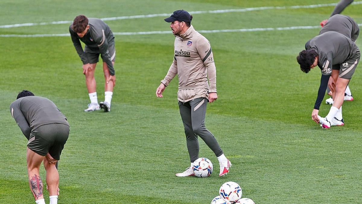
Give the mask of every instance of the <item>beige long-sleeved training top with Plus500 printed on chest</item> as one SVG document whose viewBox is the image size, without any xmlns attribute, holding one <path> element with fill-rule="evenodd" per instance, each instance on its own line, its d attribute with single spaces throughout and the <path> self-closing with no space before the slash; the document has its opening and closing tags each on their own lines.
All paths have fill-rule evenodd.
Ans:
<svg viewBox="0 0 362 204">
<path fill-rule="evenodd" d="M 184 103 L 216 93 L 216 68 L 210 42 L 192 25 L 175 37 L 173 62 L 161 83 L 168 86 L 178 74 L 177 98 Z"/>
</svg>

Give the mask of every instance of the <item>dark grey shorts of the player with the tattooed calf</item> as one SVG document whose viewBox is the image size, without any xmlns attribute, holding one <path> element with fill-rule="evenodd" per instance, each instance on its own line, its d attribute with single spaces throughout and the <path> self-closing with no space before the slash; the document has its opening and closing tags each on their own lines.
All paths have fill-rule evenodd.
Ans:
<svg viewBox="0 0 362 204">
<path fill-rule="evenodd" d="M 35 153 L 45 156 L 48 152 L 56 160 L 69 136 L 69 126 L 62 123 L 51 123 L 37 127 L 31 131 L 28 147 Z"/>
</svg>

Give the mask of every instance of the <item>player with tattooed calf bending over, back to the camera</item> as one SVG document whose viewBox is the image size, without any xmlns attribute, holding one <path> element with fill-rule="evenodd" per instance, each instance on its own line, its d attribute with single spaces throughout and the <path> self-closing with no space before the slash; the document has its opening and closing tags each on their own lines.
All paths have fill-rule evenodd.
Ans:
<svg viewBox="0 0 362 204">
<path fill-rule="evenodd" d="M 69 136 L 67 118 L 49 99 L 34 96 L 26 90 L 20 92 L 16 100 L 11 103 L 10 113 L 29 140 L 26 148 L 26 166 L 29 187 L 35 203 L 45 204 L 43 181 L 39 175 L 39 167 L 43 162 L 50 204 L 56 204 L 59 174 L 55 164 L 60 159 Z"/>
</svg>

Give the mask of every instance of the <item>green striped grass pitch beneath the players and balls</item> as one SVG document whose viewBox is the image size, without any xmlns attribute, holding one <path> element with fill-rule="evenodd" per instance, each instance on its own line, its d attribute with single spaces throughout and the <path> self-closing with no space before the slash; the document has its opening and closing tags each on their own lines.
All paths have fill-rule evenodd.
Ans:
<svg viewBox="0 0 362 204">
<path fill-rule="evenodd" d="M 194 14 L 196 30 L 315 26 L 333 6 L 293 5 L 337 0 L 0 1 L 0 25 L 172 13 L 281 7 Z M 342 14 L 362 23 L 362 5 Z M 165 17 L 105 21 L 113 32 L 169 31 Z M 0 28 L 0 34 L 62 34 L 69 24 Z M 311 120 L 320 72 L 300 71 L 295 60 L 319 29 L 204 33 L 217 69 L 218 100 L 208 105 L 206 127 L 233 166 L 219 178 L 177 178 L 189 165 L 177 105 L 177 78 L 163 98 L 155 90 L 172 62 L 172 34 L 117 35 L 116 85 L 110 113 L 85 113 L 89 103 L 81 61 L 70 37 L 0 37 L 0 203 L 34 203 L 26 173 L 26 138 L 9 113 L 22 89 L 51 99 L 67 116 L 69 139 L 59 162 L 59 203 L 207 204 L 220 185 L 235 181 L 255 203 L 361 203 L 362 80 L 357 67 L 345 102 L 345 126 L 323 130 Z M 357 45 L 362 46 L 361 40 Z M 101 64 L 98 101 L 104 99 Z M 325 97 L 325 99 L 327 96 Z M 324 102 L 320 115 L 330 106 Z M 41 168 L 45 182 L 45 171 Z M 46 202 L 49 203 L 47 191 Z"/>
</svg>

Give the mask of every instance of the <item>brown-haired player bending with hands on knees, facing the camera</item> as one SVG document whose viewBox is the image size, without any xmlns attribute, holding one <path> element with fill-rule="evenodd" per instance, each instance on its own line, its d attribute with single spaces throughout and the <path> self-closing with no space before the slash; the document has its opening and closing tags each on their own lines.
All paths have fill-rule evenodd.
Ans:
<svg viewBox="0 0 362 204">
<path fill-rule="evenodd" d="M 113 69 L 115 48 L 114 36 L 111 29 L 101 19 L 88 19 L 80 15 L 75 17 L 73 23 L 69 26 L 69 32 L 73 45 L 83 62 L 83 74 L 85 75 L 85 84 L 87 85 L 90 99 L 88 108 L 84 111 L 100 110 L 100 107 L 104 109 L 105 112 L 110 111 L 113 87 L 115 85 Z M 79 40 L 85 44 L 84 51 Z M 105 84 L 104 102 L 100 102 L 98 105 L 94 70 L 96 69 L 99 54 L 101 54 L 103 60 Z"/>
</svg>

